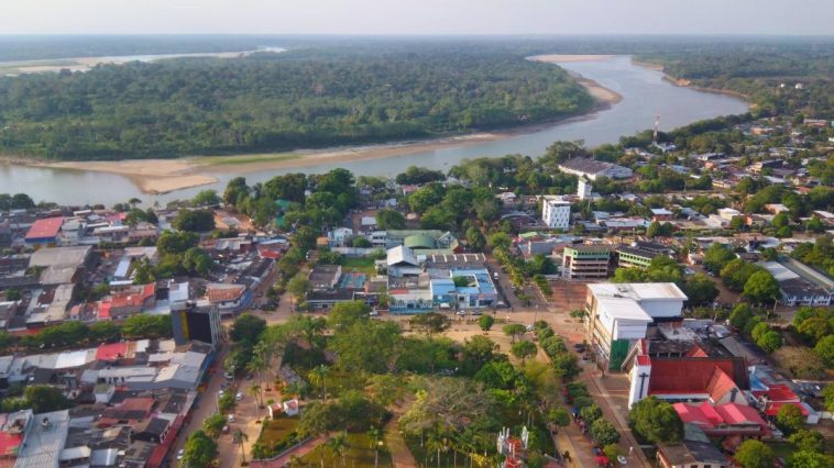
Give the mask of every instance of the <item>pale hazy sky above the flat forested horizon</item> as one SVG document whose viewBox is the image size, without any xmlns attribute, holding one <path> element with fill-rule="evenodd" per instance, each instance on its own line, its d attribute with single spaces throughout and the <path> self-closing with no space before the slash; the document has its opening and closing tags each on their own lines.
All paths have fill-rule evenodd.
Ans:
<svg viewBox="0 0 834 468">
<path fill-rule="evenodd" d="M 0 34 L 834 34 L 833 0 L 2 0 Z"/>
</svg>

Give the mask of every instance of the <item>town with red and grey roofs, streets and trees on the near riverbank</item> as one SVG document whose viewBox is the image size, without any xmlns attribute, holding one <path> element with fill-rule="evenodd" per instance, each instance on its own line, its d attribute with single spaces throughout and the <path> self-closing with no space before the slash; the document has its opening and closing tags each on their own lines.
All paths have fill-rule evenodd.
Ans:
<svg viewBox="0 0 834 468">
<path fill-rule="evenodd" d="M 712 123 L 0 196 L 0 466 L 831 466 L 834 122 Z"/>
</svg>

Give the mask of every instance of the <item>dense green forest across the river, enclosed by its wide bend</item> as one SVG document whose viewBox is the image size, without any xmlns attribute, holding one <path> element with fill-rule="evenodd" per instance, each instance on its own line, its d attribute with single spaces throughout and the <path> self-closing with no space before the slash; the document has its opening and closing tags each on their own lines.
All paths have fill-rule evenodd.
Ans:
<svg viewBox="0 0 834 468">
<path fill-rule="evenodd" d="M 0 151 L 175 157 L 427 137 L 580 113 L 562 69 L 479 47 L 308 47 L 0 79 Z"/>
</svg>

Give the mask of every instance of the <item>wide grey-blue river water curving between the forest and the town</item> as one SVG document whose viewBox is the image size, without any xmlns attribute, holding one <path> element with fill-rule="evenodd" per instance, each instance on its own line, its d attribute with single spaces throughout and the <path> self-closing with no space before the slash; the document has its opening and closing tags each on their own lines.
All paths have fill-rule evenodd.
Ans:
<svg viewBox="0 0 834 468">
<path fill-rule="evenodd" d="M 233 177 L 243 175 L 249 183 L 263 182 L 275 175 L 304 171 L 325 172 L 333 167 L 343 167 L 355 175 L 395 176 L 408 166 L 424 166 L 447 170 L 467 158 L 524 154 L 539 156 L 558 140 L 584 140 L 589 146 L 616 143 L 623 135 L 632 135 L 654 125 L 660 115 L 660 129 L 671 130 L 689 123 L 718 115 L 738 114 L 747 111 L 747 103 L 738 98 L 677 87 L 663 79 L 661 73 L 634 65 L 629 57 L 614 57 L 594 62 L 560 64 L 585 78 L 618 92 L 623 99 L 610 109 L 549 126 L 538 127 L 498 141 L 465 144 L 437 151 L 417 152 L 380 159 L 351 163 L 320 164 L 296 169 L 275 169 L 261 172 L 212 174 L 220 181 L 211 186 L 177 190 L 171 193 L 150 196 L 141 193 L 130 179 L 112 174 L 85 170 L 50 169 L 0 163 L 0 193 L 29 193 L 35 201 L 55 201 L 66 204 L 106 203 L 127 201 L 132 197 L 145 203 L 165 203 L 186 199 L 199 190 L 211 188 L 222 192 Z"/>
</svg>

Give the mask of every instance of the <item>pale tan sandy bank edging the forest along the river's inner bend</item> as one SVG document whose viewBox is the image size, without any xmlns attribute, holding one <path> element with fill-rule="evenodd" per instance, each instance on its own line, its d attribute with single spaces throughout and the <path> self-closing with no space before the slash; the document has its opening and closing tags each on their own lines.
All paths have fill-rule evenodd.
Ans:
<svg viewBox="0 0 834 468">
<path fill-rule="evenodd" d="M 568 57 L 566 59 L 566 57 Z M 530 57 L 545 63 L 601 60 L 613 56 L 604 55 L 542 55 Z M 95 59 L 90 59 L 95 60 Z M 623 98 L 615 91 L 599 82 L 578 76 L 574 77 L 597 100 L 597 105 L 589 113 L 606 109 Z M 561 120 L 586 119 L 589 113 Z M 454 135 L 436 140 L 388 143 L 365 146 L 345 146 L 326 149 L 298 149 L 274 154 L 243 154 L 238 156 L 194 156 L 179 159 L 128 159 L 118 161 L 41 161 L 28 158 L 7 158 L 17 164 L 47 167 L 54 169 L 91 170 L 118 174 L 129 178 L 144 193 L 166 193 L 209 183 L 218 178 L 213 175 L 226 172 L 255 172 L 262 170 L 292 169 L 317 166 L 320 164 L 350 163 L 365 159 L 396 157 L 411 153 L 427 153 L 453 147 L 464 147 L 484 142 L 509 138 L 519 134 L 536 132 L 544 126 L 553 125 L 556 121 L 527 125 L 509 131 L 480 132 Z"/>
</svg>

